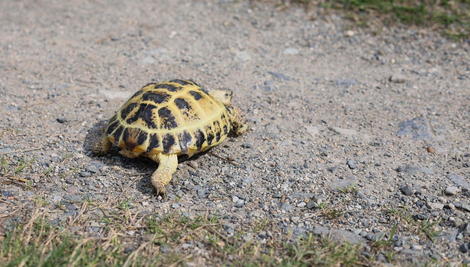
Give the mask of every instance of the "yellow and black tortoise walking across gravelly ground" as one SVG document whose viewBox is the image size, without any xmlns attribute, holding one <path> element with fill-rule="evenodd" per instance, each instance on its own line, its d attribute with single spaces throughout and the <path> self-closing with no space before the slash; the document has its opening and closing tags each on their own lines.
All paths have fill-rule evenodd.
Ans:
<svg viewBox="0 0 470 267">
<path fill-rule="evenodd" d="M 125 157 L 149 157 L 158 163 L 150 186 L 166 200 L 165 186 L 178 166 L 178 156 L 191 157 L 217 146 L 233 129 L 243 134 L 248 122 L 230 105 L 232 90 L 207 92 L 193 80 L 149 83 L 135 92 L 110 118 L 92 149 L 103 156 L 114 144 Z"/>
</svg>

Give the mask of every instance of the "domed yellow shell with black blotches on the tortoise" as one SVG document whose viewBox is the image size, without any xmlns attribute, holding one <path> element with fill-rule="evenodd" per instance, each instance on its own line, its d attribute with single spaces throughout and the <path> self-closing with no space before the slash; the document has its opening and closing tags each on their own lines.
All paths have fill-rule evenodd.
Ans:
<svg viewBox="0 0 470 267">
<path fill-rule="evenodd" d="M 149 83 L 110 119 L 105 134 L 121 149 L 146 154 L 193 154 L 221 143 L 230 108 L 192 80 Z"/>
</svg>

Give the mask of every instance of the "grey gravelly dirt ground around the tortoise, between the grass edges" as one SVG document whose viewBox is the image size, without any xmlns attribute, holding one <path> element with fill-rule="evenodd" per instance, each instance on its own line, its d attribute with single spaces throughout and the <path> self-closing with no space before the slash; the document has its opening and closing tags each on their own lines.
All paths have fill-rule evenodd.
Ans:
<svg viewBox="0 0 470 267">
<path fill-rule="evenodd" d="M 331 230 L 384 265 L 470 258 L 468 43 L 228 0 L 4 0 L 0 33 L 0 233 L 35 196 L 55 224 L 77 216 L 71 201 L 125 198 L 142 214 L 217 214 L 223 236 L 275 226 L 245 241 Z M 90 150 L 128 97 L 169 79 L 232 88 L 250 131 L 211 150 L 238 165 L 181 162 L 165 202 L 154 163 Z M 392 256 L 375 245 L 389 237 Z"/>
</svg>

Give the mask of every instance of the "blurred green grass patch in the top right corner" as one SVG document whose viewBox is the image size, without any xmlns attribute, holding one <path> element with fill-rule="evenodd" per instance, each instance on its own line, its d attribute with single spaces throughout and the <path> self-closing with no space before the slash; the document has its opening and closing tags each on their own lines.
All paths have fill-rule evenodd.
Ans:
<svg viewBox="0 0 470 267">
<path fill-rule="evenodd" d="M 278 3 L 276 1 L 276 3 Z M 298 0 L 306 8 L 315 4 L 329 10 L 344 10 L 356 26 L 403 23 L 439 29 L 452 39 L 470 38 L 470 0 Z"/>
</svg>

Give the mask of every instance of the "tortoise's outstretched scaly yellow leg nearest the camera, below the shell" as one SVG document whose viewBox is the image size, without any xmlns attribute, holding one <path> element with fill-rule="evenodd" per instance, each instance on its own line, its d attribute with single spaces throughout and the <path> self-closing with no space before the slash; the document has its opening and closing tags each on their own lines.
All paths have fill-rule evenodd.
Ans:
<svg viewBox="0 0 470 267">
<path fill-rule="evenodd" d="M 150 159 L 158 163 L 157 170 L 150 178 L 150 186 L 155 190 L 157 195 L 162 195 L 166 200 L 165 185 L 168 185 L 172 180 L 172 174 L 178 167 L 178 156 L 176 154 L 150 154 L 147 155 Z"/>
</svg>

